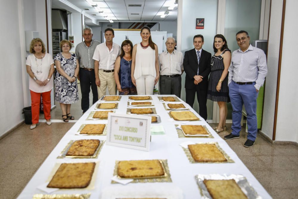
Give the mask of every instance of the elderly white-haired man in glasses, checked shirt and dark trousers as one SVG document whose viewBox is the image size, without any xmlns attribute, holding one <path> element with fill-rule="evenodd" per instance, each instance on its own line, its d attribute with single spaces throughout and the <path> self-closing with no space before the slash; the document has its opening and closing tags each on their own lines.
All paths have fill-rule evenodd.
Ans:
<svg viewBox="0 0 298 199">
<path fill-rule="evenodd" d="M 167 51 L 158 57 L 160 78 L 159 90 L 161 95 L 181 96 L 181 74 L 183 73 L 183 54 L 175 50 L 176 41 L 168 37 Z"/>
</svg>

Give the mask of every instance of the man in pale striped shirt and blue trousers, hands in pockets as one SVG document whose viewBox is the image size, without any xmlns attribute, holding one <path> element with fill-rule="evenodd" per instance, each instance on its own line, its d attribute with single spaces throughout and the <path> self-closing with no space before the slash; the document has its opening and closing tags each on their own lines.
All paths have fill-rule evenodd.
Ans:
<svg viewBox="0 0 298 199">
<path fill-rule="evenodd" d="M 263 50 L 249 44 L 250 37 L 244 30 L 236 34 L 238 50 L 232 54 L 229 67 L 229 96 L 233 108 L 232 133 L 226 140 L 239 138 L 242 106 L 247 113 L 248 135 L 245 147 L 252 147 L 257 137 L 257 96 L 267 75 L 266 55 Z"/>
</svg>

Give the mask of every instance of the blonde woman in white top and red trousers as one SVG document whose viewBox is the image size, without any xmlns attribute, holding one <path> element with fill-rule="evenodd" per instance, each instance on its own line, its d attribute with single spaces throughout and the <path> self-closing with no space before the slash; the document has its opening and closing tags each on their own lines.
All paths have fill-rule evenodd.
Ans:
<svg viewBox="0 0 298 199">
<path fill-rule="evenodd" d="M 53 88 L 54 61 L 52 55 L 46 53 L 44 42 L 40 38 L 32 39 L 30 53 L 26 61 L 27 73 L 30 76 L 32 125 L 34 129 L 39 120 L 40 97 L 44 105 L 46 124 L 51 125 L 51 90 Z"/>
</svg>

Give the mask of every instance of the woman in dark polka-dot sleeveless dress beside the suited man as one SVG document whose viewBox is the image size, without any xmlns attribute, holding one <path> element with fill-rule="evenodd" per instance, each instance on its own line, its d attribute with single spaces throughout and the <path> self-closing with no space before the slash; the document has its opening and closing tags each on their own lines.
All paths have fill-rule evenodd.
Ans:
<svg viewBox="0 0 298 199">
<path fill-rule="evenodd" d="M 218 34 L 213 42 L 214 55 L 211 57 L 211 73 L 208 83 L 207 99 L 217 101 L 219 106 L 219 123 L 214 128 L 220 133 L 226 130 L 226 103 L 230 101 L 228 88 L 228 69 L 231 63 L 231 51 L 226 38 Z"/>
</svg>

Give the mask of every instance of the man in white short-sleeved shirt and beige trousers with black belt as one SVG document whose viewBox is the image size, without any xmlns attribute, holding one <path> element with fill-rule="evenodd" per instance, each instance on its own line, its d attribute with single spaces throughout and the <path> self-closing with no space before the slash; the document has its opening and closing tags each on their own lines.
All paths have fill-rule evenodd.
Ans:
<svg viewBox="0 0 298 199">
<path fill-rule="evenodd" d="M 117 57 L 121 53 L 121 47 L 113 43 L 114 30 L 105 29 L 105 43 L 99 44 L 94 52 L 95 83 L 97 85 L 98 98 L 102 98 L 107 90 L 110 95 L 116 95 L 116 82 L 114 79 L 114 66 Z"/>
</svg>

